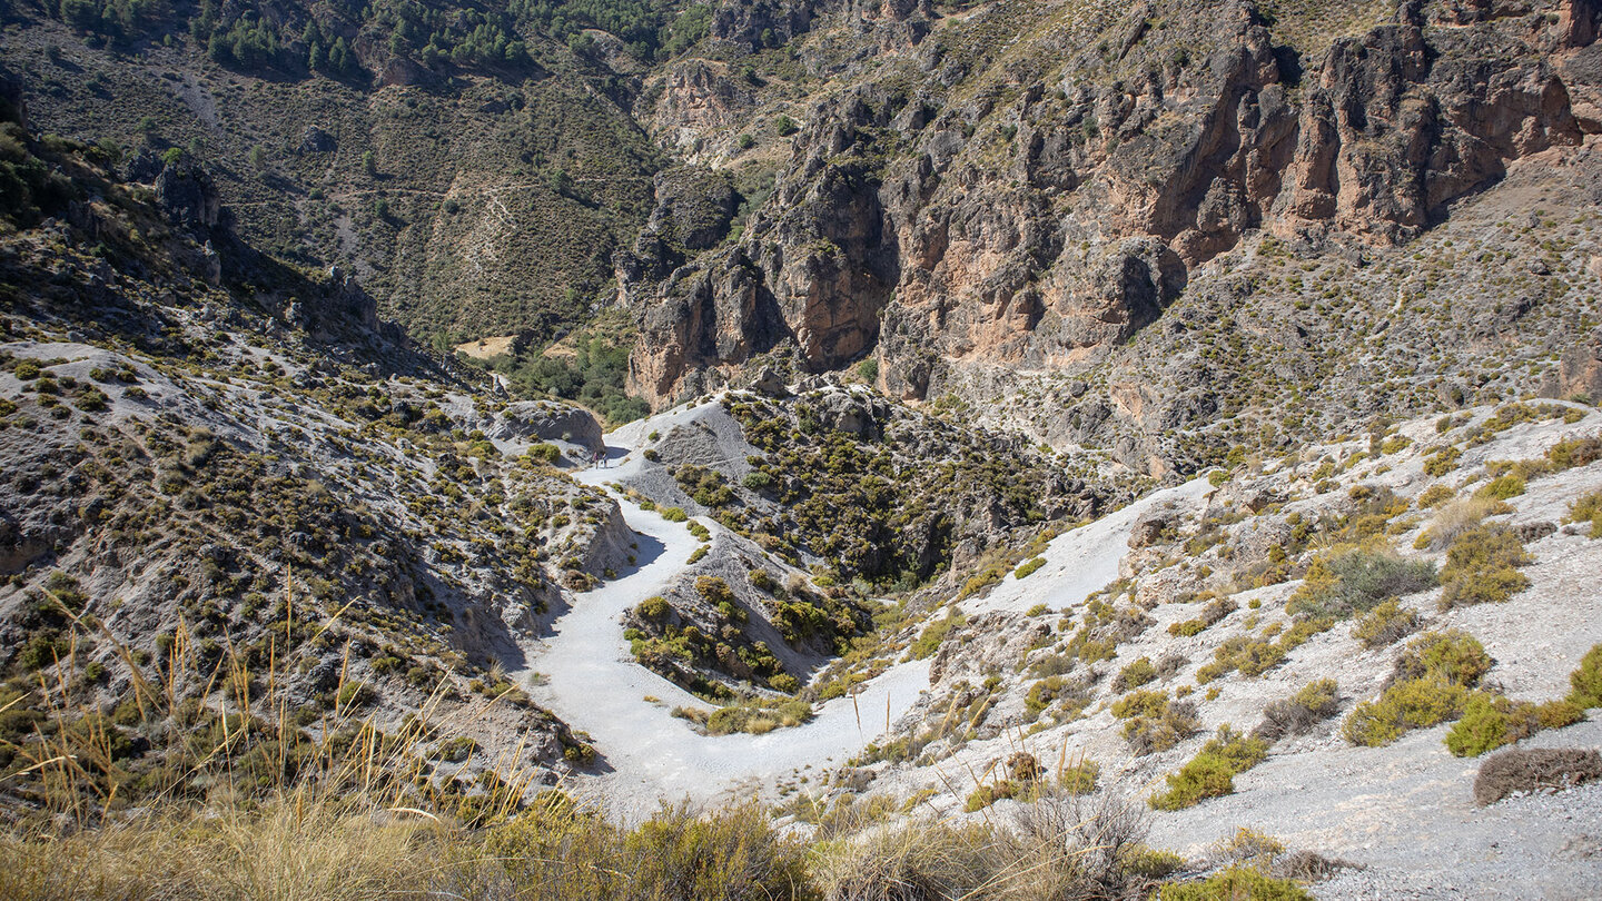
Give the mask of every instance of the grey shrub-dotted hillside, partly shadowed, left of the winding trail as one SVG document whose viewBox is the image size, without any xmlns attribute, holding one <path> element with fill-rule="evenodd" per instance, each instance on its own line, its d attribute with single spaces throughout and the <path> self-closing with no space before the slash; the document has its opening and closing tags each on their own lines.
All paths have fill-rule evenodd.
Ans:
<svg viewBox="0 0 1602 901">
<path fill-rule="evenodd" d="M 62 710 L 109 755 L 98 803 L 203 790 L 218 762 L 186 755 L 213 728 L 269 782 L 359 723 L 455 762 L 445 797 L 495 757 L 590 760 L 503 672 L 564 585 L 636 553 L 549 465 L 599 444 L 593 417 L 492 399 L 351 282 L 255 255 L 183 160 L 128 183 L 3 128 L 6 172 L 37 175 L 0 237 L 11 800 L 48 797 Z"/>
</svg>

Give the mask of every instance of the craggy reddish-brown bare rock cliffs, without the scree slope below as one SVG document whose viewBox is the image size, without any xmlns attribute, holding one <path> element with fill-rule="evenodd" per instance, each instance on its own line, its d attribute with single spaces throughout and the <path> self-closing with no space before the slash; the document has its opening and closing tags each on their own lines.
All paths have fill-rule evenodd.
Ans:
<svg viewBox="0 0 1602 901">
<path fill-rule="evenodd" d="M 1581 144 L 1602 122 L 1597 13 L 1410 3 L 1298 51 L 1248 0 L 1161 0 L 1030 37 L 1035 53 L 988 72 L 920 45 L 910 87 L 815 104 L 739 244 L 625 285 L 634 388 L 663 404 L 783 343 L 812 370 L 875 354 L 905 398 L 985 366 L 1094 364 L 1248 232 L 1341 253 L 1410 240 L 1515 160 Z M 1216 402 L 1141 391 L 1091 434 Z"/>
</svg>

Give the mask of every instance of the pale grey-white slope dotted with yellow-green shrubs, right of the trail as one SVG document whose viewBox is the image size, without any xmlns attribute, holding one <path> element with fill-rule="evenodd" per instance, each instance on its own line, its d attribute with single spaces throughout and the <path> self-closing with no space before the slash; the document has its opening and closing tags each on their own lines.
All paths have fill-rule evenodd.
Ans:
<svg viewBox="0 0 1602 901">
<path fill-rule="evenodd" d="M 1192 859 L 1246 826 L 1368 867 L 1320 898 L 1584 896 L 1602 786 L 1482 806 L 1472 758 L 1602 739 L 1562 701 L 1602 644 L 1599 428 L 1568 404 L 1411 420 L 1069 532 L 953 600 L 928 694 L 835 784 L 984 819 L 1094 773 Z M 1117 579 L 1086 592 L 1085 553 Z M 1437 681 L 1419 661 L 1448 646 Z"/>
</svg>

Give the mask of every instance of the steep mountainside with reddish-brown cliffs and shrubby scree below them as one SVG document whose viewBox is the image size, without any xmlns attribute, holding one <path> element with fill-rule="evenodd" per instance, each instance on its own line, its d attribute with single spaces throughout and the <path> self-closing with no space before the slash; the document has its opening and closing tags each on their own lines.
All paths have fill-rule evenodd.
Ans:
<svg viewBox="0 0 1602 901">
<path fill-rule="evenodd" d="M 1501 369 L 1519 390 L 1586 391 L 1552 354 L 1591 345 L 1596 16 L 1567 0 L 820 16 L 793 53 L 833 82 L 772 199 L 676 269 L 649 245 L 623 266 L 636 385 L 665 399 L 767 353 L 814 370 L 871 356 L 897 396 L 1043 396 L 1003 418 L 1155 475 L 1262 428 L 1253 404 L 1309 414 L 1299 439 L 1352 418 L 1344 388 L 1320 396 L 1339 385 L 1325 356 L 1407 383 L 1357 417 L 1461 402 L 1427 382 L 1475 380 L 1491 353 L 1535 362 Z M 852 42 L 888 51 L 830 53 Z M 777 103 L 756 95 L 748 115 Z M 724 133 L 755 131 L 732 119 Z M 1459 216 L 1480 224 L 1427 231 Z M 1532 229 L 1483 231 L 1507 216 Z M 1437 335 L 1371 338 L 1386 306 L 1483 337 L 1416 378 Z M 1187 446 L 1197 426 L 1214 428 Z"/>
</svg>

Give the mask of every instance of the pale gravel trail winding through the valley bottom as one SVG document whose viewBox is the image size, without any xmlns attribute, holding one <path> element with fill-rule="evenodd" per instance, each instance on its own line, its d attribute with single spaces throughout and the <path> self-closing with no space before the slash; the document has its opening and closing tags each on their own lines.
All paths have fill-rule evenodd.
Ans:
<svg viewBox="0 0 1602 901">
<path fill-rule="evenodd" d="M 601 484 L 638 465 L 638 459 L 625 457 L 620 467 L 574 476 Z M 554 635 L 530 649 L 530 669 L 513 673 L 537 702 L 588 733 L 602 755 L 599 776 L 580 787 L 585 794 L 593 792 L 618 813 L 641 814 L 662 798 L 710 800 L 793 771 L 838 765 L 884 734 L 928 688 L 929 662 L 913 661 L 865 683 L 855 704 L 839 697 L 820 705 L 803 726 L 764 736 L 695 733 L 671 709 L 708 704 L 634 664 L 620 617 L 682 572 L 700 542 L 684 523 L 670 523 L 626 499 L 618 505 L 639 542 L 636 566 L 593 592 L 574 595 L 572 608 L 553 624 Z M 529 685 L 533 670 L 545 673 L 543 685 Z"/>
</svg>

